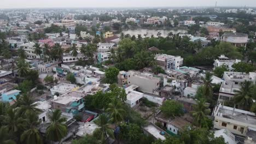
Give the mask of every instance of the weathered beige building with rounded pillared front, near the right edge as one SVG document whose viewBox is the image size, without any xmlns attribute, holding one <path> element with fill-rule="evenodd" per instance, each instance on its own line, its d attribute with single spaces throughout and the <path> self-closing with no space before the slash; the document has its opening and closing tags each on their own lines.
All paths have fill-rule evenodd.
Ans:
<svg viewBox="0 0 256 144">
<path fill-rule="evenodd" d="M 245 46 L 248 42 L 248 35 L 244 33 L 224 33 L 222 41 L 231 43 L 234 46 Z"/>
</svg>

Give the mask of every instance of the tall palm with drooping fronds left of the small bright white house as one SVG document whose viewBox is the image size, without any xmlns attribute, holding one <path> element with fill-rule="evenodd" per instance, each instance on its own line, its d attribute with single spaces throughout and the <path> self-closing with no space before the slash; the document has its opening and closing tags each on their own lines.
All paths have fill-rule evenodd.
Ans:
<svg viewBox="0 0 256 144">
<path fill-rule="evenodd" d="M 112 117 L 112 120 L 117 127 L 117 123 L 124 120 L 125 110 L 121 101 L 115 98 L 112 103 L 108 104 L 108 108 L 106 110 Z"/>
</svg>

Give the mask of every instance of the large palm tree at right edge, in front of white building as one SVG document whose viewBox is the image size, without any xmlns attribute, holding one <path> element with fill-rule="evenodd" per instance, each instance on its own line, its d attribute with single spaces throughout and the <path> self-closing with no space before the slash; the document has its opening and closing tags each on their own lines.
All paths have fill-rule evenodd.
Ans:
<svg viewBox="0 0 256 144">
<path fill-rule="evenodd" d="M 239 90 L 234 90 L 235 97 L 234 103 L 238 104 L 238 106 L 242 107 L 244 110 L 250 110 L 253 105 L 253 96 L 255 93 L 253 92 L 253 83 L 251 81 L 245 81 L 245 83 L 240 84 L 241 88 Z"/>
</svg>

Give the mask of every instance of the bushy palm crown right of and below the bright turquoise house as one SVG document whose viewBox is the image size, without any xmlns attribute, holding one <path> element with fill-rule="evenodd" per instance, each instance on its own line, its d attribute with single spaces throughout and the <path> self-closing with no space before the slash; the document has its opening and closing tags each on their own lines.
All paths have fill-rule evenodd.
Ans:
<svg viewBox="0 0 256 144">
<path fill-rule="evenodd" d="M 18 113 L 23 116 L 26 112 L 39 113 L 41 110 L 38 109 L 37 104 L 34 104 L 34 99 L 28 95 L 24 94 L 17 98 L 15 107 L 18 107 Z"/>
</svg>

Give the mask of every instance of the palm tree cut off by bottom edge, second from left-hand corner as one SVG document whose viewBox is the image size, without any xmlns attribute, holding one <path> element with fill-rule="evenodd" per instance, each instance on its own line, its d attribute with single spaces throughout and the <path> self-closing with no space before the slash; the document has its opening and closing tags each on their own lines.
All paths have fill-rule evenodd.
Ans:
<svg viewBox="0 0 256 144">
<path fill-rule="evenodd" d="M 21 135 L 21 142 L 26 144 L 33 144 L 38 143 L 42 144 L 42 136 L 40 135 L 40 132 L 37 128 L 37 126 L 40 124 L 40 121 L 38 119 L 38 116 L 36 113 L 33 112 L 27 112 L 26 113 L 26 130 Z"/>
</svg>

